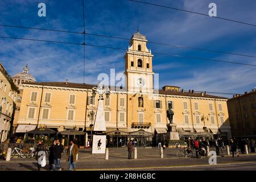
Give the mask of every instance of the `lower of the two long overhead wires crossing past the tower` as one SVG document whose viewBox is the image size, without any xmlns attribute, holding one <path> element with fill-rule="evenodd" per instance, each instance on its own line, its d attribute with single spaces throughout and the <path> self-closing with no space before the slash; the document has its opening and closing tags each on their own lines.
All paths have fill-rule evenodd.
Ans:
<svg viewBox="0 0 256 182">
<path fill-rule="evenodd" d="M 7 36 L 0 36 L 0 38 L 4 38 L 4 39 L 31 40 L 31 41 L 47 42 L 47 43 L 73 44 L 73 45 L 77 45 L 77 46 L 90 46 L 90 47 L 109 48 L 109 49 L 118 49 L 118 50 L 127 51 L 127 49 L 125 49 L 125 48 L 98 46 L 98 45 L 93 45 L 93 44 L 79 44 L 79 43 L 59 42 L 59 41 L 40 40 L 40 39 L 16 38 L 16 37 L 7 37 Z M 141 51 L 141 52 L 143 52 L 143 51 Z M 207 59 L 207 58 L 203 58 L 203 57 L 171 55 L 171 54 L 160 53 L 160 52 L 152 52 L 152 53 L 155 54 L 155 55 L 166 55 L 166 56 L 171 56 L 171 57 L 182 57 L 182 58 L 187 58 L 187 59 L 198 59 L 198 60 L 205 60 L 205 61 L 215 61 L 215 62 L 220 62 L 220 63 L 240 64 L 240 65 L 247 65 L 247 66 L 256 67 L 256 65 L 254 65 L 254 64 L 237 63 L 237 62 L 233 62 L 233 61 L 229 61 L 229 60 L 216 60 L 216 59 Z"/>
</svg>

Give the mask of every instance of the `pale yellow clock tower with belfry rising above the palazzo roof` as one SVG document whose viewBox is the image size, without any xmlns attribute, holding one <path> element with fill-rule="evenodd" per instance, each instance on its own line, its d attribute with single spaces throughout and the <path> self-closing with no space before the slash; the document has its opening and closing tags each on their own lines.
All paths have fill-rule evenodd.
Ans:
<svg viewBox="0 0 256 182">
<path fill-rule="evenodd" d="M 127 91 L 154 93 L 151 50 L 147 48 L 146 36 L 139 30 L 130 40 L 125 54 L 125 75 L 127 76 Z"/>
</svg>

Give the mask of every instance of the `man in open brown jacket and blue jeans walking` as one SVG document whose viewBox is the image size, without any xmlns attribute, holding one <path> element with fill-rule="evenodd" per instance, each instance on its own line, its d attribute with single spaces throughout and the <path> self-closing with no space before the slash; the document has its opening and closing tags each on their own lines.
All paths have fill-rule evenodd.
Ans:
<svg viewBox="0 0 256 182">
<path fill-rule="evenodd" d="M 79 152 L 79 148 L 77 144 L 75 144 L 73 140 L 71 140 L 69 142 L 68 154 L 67 154 L 69 171 L 72 171 L 72 167 L 73 167 L 73 170 L 76 171 L 76 161 L 77 161 L 78 152 Z"/>
</svg>

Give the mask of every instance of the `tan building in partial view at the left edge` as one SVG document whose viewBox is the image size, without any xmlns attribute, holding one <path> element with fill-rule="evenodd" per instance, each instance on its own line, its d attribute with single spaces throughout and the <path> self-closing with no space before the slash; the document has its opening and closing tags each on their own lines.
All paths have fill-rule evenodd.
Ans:
<svg viewBox="0 0 256 182">
<path fill-rule="evenodd" d="M 9 137 L 12 129 L 18 88 L 0 62 L 0 142 Z"/>
</svg>

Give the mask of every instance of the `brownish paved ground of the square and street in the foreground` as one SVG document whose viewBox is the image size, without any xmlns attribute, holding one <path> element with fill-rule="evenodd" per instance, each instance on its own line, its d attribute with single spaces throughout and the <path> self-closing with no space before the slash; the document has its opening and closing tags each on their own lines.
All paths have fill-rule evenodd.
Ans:
<svg viewBox="0 0 256 182">
<path fill-rule="evenodd" d="M 178 159 L 177 148 L 166 148 L 164 158 L 160 159 L 159 148 L 137 148 L 138 159 L 127 159 L 127 148 L 109 148 L 109 160 L 104 154 L 92 154 L 91 149 L 80 149 L 77 170 L 256 170 L 256 154 L 242 154 L 240 158 L 223 155 L 217 156 L 217 165 L 209 165 L 208 158 Z M 214 148 L 210 148 L 210 151 Z M 194 151 L 195 153 L 195 151 Z M 14 158 L 10 162 L 0 160 L 0 170 L 36 170 L 35 159 Z M 65 156 L 61 159 L 64 170 L 68 169 Z M 47 170 L 47 166 L 42 170 Z"/>
</svg>

